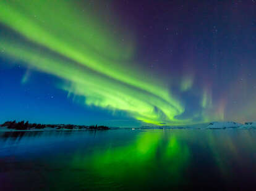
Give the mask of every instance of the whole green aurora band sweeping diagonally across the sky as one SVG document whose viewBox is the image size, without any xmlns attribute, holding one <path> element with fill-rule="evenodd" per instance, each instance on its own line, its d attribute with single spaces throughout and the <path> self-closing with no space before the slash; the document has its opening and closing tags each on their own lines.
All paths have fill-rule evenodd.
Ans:
<svg viewBox="0 0 256 191">
<path fill-rule="evenodd" d="M 0 23 L 9 30 L 0 37 L 2 55 L 58 76 L 64 81 L 58 87 L 82 95 L 86 105 L 124 111 L 145 123 L 192 123 L 176 119 L 185 108 L 168 84 L 130 64 L 133 38 L 111 33 L 100 16 L 80 7 L 72 1 L 0 1 Z M 192 79 L 185 79 L 182 91 L 191 86 Z"/>
</svg>

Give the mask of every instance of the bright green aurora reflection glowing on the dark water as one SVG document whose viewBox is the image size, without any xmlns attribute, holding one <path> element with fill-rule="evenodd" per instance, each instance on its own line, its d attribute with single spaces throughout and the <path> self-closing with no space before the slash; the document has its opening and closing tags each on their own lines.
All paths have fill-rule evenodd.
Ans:
<svg viewBox="0 0 256 191">
<path fill-rule="evenodd" d="M 92 153 L 77 153 L 72 168 L 87 169 L 100 177 L 129 185 L 145 184 L 148 180 L 171 179 L 172 184 L 184 182 L 184 169 L 190 160 L 189 148 L 179 136 L 162 131 L 137 134 L 126 145 L 107 145 L 95 148 Z M 131 186 L 131 185 L 129 185 Z"/>
</svg>

